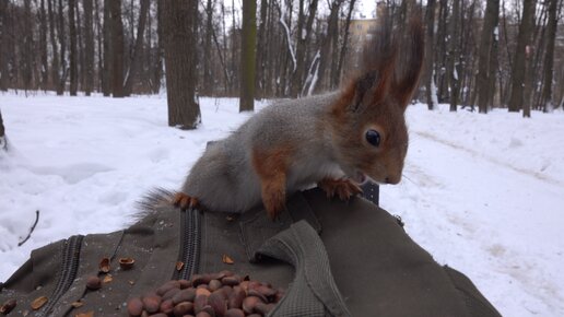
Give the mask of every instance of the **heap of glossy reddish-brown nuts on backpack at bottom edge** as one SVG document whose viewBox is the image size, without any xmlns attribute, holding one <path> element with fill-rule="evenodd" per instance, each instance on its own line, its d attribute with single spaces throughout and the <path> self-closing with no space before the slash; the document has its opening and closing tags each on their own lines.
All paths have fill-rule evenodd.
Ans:
<svg viewBox="0 0 564 317">
<path fill-rule="evenodd" d="M 154 317 L 259 317 L 267 316 L 283 296 L 270 283 L 221 271 L 168 281 L 154 293 L 129 300 L 127 312 Z"/>
</svg>

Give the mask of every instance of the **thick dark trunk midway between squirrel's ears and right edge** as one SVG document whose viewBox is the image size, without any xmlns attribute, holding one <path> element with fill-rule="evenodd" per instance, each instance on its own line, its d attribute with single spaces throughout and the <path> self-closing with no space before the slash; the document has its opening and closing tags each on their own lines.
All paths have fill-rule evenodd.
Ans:
<svg viewBox="0 0 564 317">
<path fill-rule="evenodd" d="M 478 89 L 478 110 L 486 114 L 491 105 L 490 99 L 490 77 L 493 70 L 491 67 L 492 42 L 496 27 L 496 16 L 500 15 L 500 0 L 487 1 L 485 7 L 484 26 L 480 39 L 480 56 L 478 62 L 477 89 Z"/>
</svg>

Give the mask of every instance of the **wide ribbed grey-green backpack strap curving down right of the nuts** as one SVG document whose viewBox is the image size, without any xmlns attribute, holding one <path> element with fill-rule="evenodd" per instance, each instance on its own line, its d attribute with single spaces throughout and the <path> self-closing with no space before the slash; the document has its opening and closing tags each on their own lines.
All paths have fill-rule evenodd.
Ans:
<svg viewBox="0 0 564 317">
<path fill-rule="evenodd" d="M 351 316 L 331 275 L 324 243 L 306 221 L 268 239 L 255 257 L 261 256 L 285 261 L 295 269 L 286 295 L 269 316 Z"/>
</svg>

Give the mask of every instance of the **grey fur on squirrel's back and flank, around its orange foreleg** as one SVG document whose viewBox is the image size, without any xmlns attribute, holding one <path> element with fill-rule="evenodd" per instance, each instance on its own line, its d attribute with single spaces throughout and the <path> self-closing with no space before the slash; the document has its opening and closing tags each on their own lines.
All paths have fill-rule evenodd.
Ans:
<svg viewBox="0 0 564 317">
<path fill-rule="evenodd" d="M 286 176 L 286 195 L 325 177 L 341 177 L 327 122 L 338 94 L 277 103 L 262 109 L 230 137 L 211 143 L 192 166 L 181 191 L 214 211 L 244 212 L 261 202 L 252 149 L 299 144 Z"/>
</svg>

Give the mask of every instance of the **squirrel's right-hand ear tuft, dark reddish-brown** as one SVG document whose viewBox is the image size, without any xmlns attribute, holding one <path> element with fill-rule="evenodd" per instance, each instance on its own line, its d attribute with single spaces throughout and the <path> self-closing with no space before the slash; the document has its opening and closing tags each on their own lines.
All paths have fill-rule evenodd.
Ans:
<svg viewBox="0 0 564 317">
<path fill-rule="evenodd" d="M 407 50 L 407 54 L 402 54 L 406 60 L 401 60 L 402 68 L 396 70 L 396 78 L 391 85 L 391 94 L 403 110 L 406 110 L 413 92 L 418 87 L 423 66 L 425 44 L 419 16 L 411 20 L 408 38 L 410 39 L 409 43 L 406 43 L 406 47 L 402 47 L 402 50 Z"/>
</svg>

